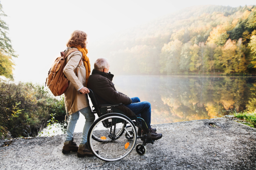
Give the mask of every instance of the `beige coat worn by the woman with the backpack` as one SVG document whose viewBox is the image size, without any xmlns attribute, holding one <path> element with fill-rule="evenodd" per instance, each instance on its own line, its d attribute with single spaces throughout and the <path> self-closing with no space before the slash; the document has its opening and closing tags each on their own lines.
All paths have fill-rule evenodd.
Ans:
<svg viewBox="0 0 256 170">
<path fill-rule="evenodd" d="M 68 51 L 76 49 L 76 48 L 68 48 L 65 51 L 65 54 L 68 53 Z M 82 108 L 86 108 L 89 106 L 89 100 L 88 96 L 86 94 L 80 94 L 79 89 L 85 86 L 86 80 L 85 80 L 85 67 L 84 63 L 79 68 L 78 77 L 74 73 L 74 70 L 78 66 L 80 60 L 81 60 L 81 52 L 75 51 L 71 53 L 69 56 L 67 56 L 65 63 L 66 66 L 64 68 L 64 74 L 66 77 L 70 80 L 70 84 L 67 88 L 67 91 L 64 93 L 64 102 L 65 102 L 65 108 L 66 112 L 71 115 L 73 113 L 76 113 L 77 111 L 81 110 Z"/>
</svg>

